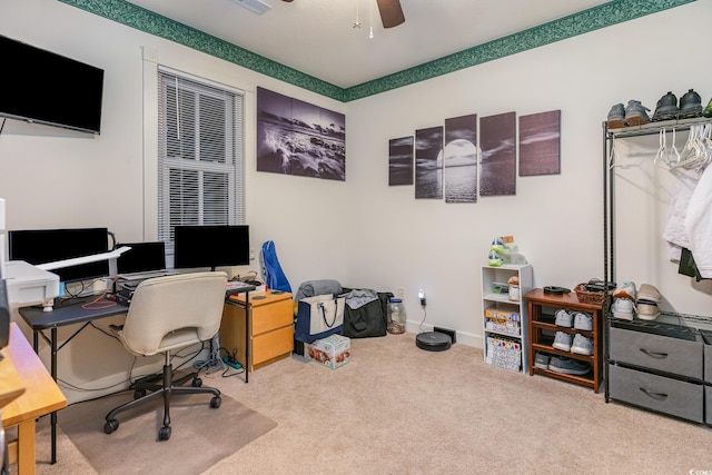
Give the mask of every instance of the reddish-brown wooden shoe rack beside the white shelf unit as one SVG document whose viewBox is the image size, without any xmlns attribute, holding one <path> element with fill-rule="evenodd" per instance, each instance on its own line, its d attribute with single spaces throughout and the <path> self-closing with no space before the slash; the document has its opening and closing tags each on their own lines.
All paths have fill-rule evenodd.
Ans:
<svg viewBox="0 0 712 475">
<path fill-rule="evenodd" d="M 528 336 L 530 344 L 527 347 L 530 365 L 530 375 L 543 375 L 555 379 L 565 380 L 567 383 L 577 384 L 590 387 L 595 393 L 603 377 L 603 305 L 582 303 L 574 291 L 562 295 L 545 294 L 544 289 L 535 288 L 524 295 L 527 311 L 530 316 Z M 555 324 L 554 314 L 558 309 L 584 311 L 593 317 L 593 329 L 590 331 L 560 327 Z M 591 338 L 593 343 L 592 355 L 578 355 L 571 352 L 563 352 L 554 348 L 554 335 L 556 331 L 565 331 L 571 334 L 572 338 L 575 334 Z M 576 359 L 589 364 L 591 369 L 585 375 L 570 375 L 565 373 L 556 373 L 551 369 L 537 368 L 534 366 L 536 353 L 544 353 L 550 356 L 564 356 L 566 358 Z"/>
</svg>

